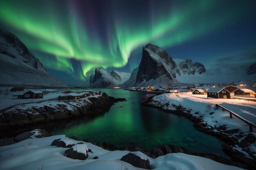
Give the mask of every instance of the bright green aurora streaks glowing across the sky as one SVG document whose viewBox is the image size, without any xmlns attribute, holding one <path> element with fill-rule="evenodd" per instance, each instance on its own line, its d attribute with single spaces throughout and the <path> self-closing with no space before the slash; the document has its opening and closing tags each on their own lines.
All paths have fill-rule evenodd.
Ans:
<svg viewBox="0 0 256 170">
<path fill-rule="evenodd" d="M 131 53 L 149 42 L 170 48 L 220 30 L 230 20 L 240 21 L 252 8 L 214 0 L 141 1 L 145 6 L 140 8 L 136 2 L 102 3 L 99 8 L 83 4 L 83 9 L 79 1 L 3 0 L 0 21 L 47 68 L 72 75 L 77 70 L 72 61 L 77 61 L 81 70 L 73 76 L 86 79 L 100 66 L 126 66 Z"/>
</svg>

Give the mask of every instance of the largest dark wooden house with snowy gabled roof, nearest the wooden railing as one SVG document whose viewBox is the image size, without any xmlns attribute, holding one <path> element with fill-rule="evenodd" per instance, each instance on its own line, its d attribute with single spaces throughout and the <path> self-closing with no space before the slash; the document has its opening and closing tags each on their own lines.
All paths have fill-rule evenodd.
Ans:
<svg viewBox="0 0 256 170">
<path fill-rule="evenodd" d="M 207 98 L 230 99 L 230 93 L 225 88 L 213 87 L 207 91 Z"/>
</svg>

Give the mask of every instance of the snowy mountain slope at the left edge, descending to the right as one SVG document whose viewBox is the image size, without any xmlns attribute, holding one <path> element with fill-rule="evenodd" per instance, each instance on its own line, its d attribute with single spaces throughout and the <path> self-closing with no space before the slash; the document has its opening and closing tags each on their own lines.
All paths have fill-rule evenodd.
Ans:
<svg viewBox="0 0 256 170">
<path fill-rule="evenodd" d="M 43 64 L 12 33 L 0 26 L 0 84 L 68 87 L 47 73 Z"/>
</svg>

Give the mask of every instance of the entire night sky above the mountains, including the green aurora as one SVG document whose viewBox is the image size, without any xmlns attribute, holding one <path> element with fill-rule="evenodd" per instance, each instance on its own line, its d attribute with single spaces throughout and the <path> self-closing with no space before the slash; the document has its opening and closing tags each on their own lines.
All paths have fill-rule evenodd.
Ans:
<svg viewBox="0 0 256 170">
<path fill-rule="evenodd" d="M 100 66 L 131 73 L 148 43 L 206 68 L 256 62 L 255 0 L 1 0 L 0 23 L 71 85 Z"/>
</svg>

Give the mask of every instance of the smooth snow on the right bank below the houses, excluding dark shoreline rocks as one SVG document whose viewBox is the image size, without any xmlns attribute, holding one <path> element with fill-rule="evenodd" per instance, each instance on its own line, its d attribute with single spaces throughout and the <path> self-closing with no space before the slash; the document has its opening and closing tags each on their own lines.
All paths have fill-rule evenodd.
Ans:
<svg viewBox="0 0 256 170">
<path fill-rule="evenodd" d="M 252 101 L 245 101 L 240 99 L 207 99 L 207 95 L 193 95 L 191 92 L 177 93 L 177 94 L 162 94 L 153 98 L 155 103 L 166 104 L 169 106 L 163 106 L 168 110 L 176 110 L 171 104 L 181 105 L 186 109 L 191 109 L 191 114 L 199 117 L 202 115 L 203 120 L 210 126 L 227 125 L 227 130 L 239 128 L 243 132 L 249 132 L 249 126 L 242 120 L 233 117 L 229 118 L 227 111 L 222 109 L 216 110 L 216 104 L 227 107 L 229 110 L 234 111 L 238 115 L 241 115 L 245 119 L 252 121 L 256 124 L 256 103 Z M 212 115 L 209 113 L 214 112 Z M 254 129 L 255 131 L 256 129 Z"/>
</svg>

